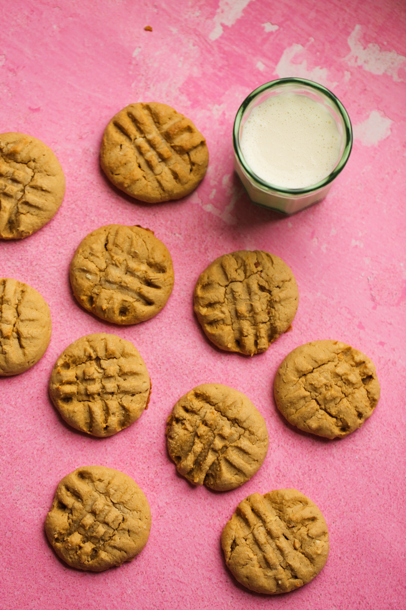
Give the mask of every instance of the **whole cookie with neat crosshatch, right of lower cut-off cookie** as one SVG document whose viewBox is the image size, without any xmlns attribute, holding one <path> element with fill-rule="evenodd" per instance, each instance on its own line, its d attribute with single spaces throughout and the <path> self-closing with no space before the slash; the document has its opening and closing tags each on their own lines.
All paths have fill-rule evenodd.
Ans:
<svg viewBox="0 0 406 610">
<path fill-rule="evenodd" d="M 49 394 L 61 416 L 77 430 L 111 436 L 147 409 L 150 378 L 135 346 L 113 334 L 74 341 L 58 358 Z"/>
</svg>

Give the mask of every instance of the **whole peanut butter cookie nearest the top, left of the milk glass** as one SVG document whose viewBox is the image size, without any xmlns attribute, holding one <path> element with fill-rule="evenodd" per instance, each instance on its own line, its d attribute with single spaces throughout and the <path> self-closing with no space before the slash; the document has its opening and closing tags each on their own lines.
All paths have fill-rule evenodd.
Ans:
<svg viewBox="0 0 406 610">
<path fill-rule="evenodd" d="M 100 150 L 107 177 L 125 193 L 158 203 L 194 190 L 209 162 L 205 138 L 166 104 L 130 104 L 108 123 Z"/>
</svg>

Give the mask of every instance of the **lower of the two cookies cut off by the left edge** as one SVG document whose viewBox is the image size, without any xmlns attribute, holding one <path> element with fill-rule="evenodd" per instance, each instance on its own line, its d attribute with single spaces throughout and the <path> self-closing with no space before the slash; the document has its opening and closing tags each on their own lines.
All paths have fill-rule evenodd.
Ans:
<svg viewBox="0 0 406 610">
<path fill-rule="evenodd" d="M 51 339 L 51 312 L 28 284 L 0 278 L 0 375 L 24 373 Z"/>
</svg>

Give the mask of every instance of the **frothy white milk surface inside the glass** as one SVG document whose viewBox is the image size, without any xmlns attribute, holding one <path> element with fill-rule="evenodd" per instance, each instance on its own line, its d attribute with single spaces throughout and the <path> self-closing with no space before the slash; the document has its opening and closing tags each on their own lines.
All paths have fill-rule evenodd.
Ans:
<svg viewBox="0 0 406 610">
<path fill-rule="evenodd" d="M 334 117 L 306 95 L 281 93 L 250 113 L 240 148 L 247 165 L 265 182 L 304 188 L 334 169 L 341 137 Z"/>
</svg>

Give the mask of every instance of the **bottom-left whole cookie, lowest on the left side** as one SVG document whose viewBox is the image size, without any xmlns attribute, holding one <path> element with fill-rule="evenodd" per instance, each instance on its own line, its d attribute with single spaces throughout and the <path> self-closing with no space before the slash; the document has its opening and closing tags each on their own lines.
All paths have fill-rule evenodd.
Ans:
<svg viewBox="0 0 406 610">
<path fill-rule="evenodd" d="M 83 466 L 60 482 L 46 515 L 55 553 L 71 567 L 102 572 L 131 561 L 147 544 L 151 511 L 129 476 Z"/>
</svg>

